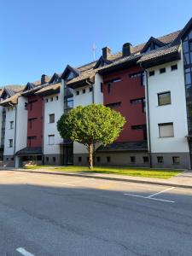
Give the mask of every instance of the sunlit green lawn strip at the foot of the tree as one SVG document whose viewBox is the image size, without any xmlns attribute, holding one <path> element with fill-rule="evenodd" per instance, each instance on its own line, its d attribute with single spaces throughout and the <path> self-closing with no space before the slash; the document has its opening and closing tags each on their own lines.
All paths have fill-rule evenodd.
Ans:
<svg viewBox="0 0 192 256">
<path fill-rule="evenodd" d="M 46 170 L 55 170 L 61 172 L 86 172 L 86 173 L 104 173 L 104 174 L 119 174 L 135 177 L 156 177 L 156 178 L 170 178 L 174 177 L 183 170 L 162 170 L 150 168 L 132 168 L 132 167 L 108 167 L 95 166 L 93 171 L 90 171 L 87 166 L 27 166 L 27 169 L 44 168 Z"/>
</svg>

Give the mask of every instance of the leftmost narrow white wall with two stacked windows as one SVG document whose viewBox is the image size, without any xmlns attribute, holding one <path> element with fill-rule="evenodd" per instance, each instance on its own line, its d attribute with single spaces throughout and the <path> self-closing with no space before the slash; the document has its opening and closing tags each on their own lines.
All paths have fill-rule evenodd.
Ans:
<svg viewBox="0 0 192 256">
<path fill-rule="evenodd" d="M 15 112 L 16 107 L 6 108 L 5 138 L 4 138 L 4 154 L 14 155 L 15 153 Z M 14 121 L 14 129 L 10 129 L 10 121 Z M 9 148 L 9 139 L 13 139 L 13 147 Z"/>
</svg>

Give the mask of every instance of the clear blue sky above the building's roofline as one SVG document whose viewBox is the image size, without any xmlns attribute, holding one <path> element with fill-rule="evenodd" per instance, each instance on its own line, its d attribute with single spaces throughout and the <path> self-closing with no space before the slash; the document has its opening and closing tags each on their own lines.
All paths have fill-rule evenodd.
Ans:
<svg viewBox="0 0 192 256">
<path fill-rule="evenodd" d="M 0 85 L 93 61 L 93 44 L 99 57 L 177 31 L 191 9 L 191 0 L 0 0 Z"/>
</svg>

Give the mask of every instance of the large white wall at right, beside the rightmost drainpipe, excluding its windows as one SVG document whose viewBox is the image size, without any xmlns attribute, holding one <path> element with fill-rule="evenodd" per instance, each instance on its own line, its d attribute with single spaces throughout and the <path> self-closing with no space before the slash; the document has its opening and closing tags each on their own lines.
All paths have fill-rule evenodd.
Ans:
<svg viewBox="0 0 192 256">
<path fill-rule="evenodd" d="M 171 65 L 177 70 L 171 71 Z M 160 67 L 166 73 L 160 74 Z M 183 61 L 174 61 L 148 69 L 154 76 L 148 76 L 149 120 L 152 153 L 189 152 Z M 171 91 L 171 105 L 158 106 L 158 93 Z M 160 123 L 173 123 L 174 137 L 159 137 Z"/>
</svg>

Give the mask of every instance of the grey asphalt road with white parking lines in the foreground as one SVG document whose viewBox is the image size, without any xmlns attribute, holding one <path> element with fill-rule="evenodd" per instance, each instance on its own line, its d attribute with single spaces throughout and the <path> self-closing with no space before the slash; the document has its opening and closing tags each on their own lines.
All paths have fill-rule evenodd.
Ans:
<svg viewBox="0 0 192 256">
<path fill-rule="evenodd" d="M 0 171 L 0 255 L 192 255 L 192 190 Z"/>
</svg>

